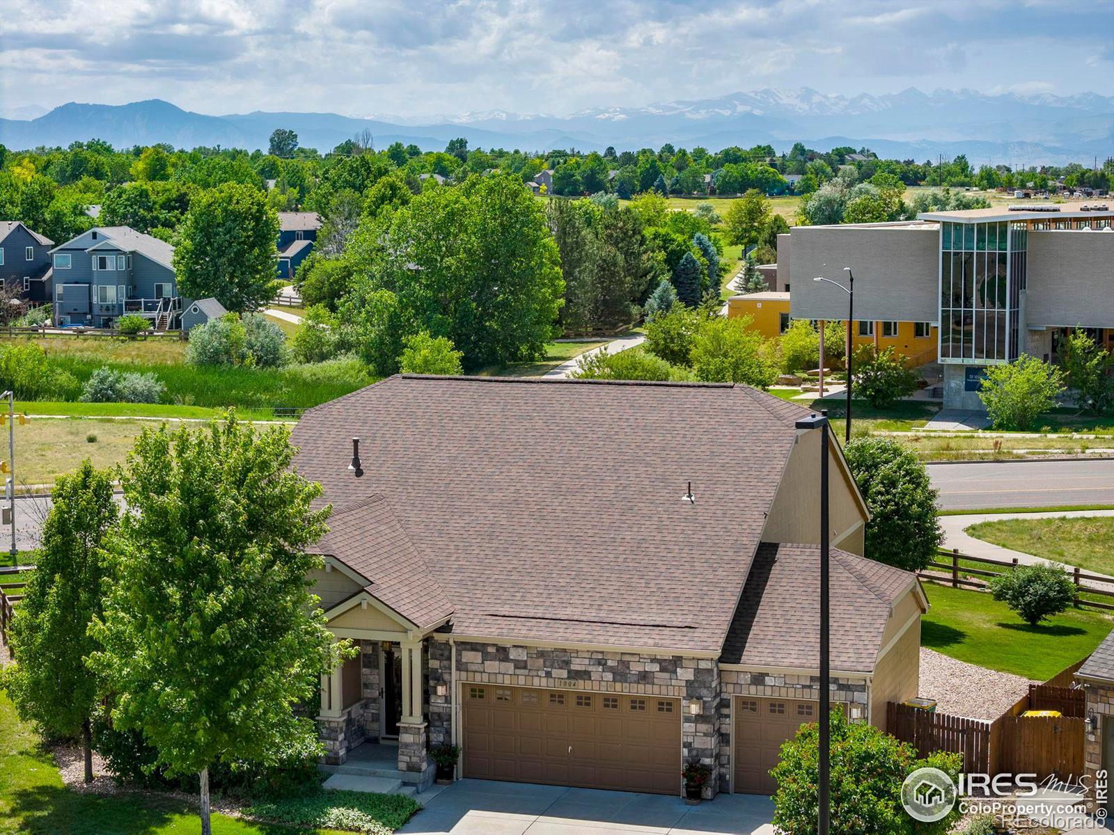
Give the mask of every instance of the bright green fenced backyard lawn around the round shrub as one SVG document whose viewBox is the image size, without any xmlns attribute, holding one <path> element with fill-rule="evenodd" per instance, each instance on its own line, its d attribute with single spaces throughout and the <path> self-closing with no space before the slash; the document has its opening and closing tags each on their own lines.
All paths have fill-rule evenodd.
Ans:
<svg viewBox="0 0 1114 835">
<path fill-rule="evenodd" d="M 921 619 L 921 646 L 1038 681 L 1085 658 L 1114 626 L 1107 615 L 1068 609 L 1030 627 L 986 592 L 924 588 L 931 608 Z"/>
</svg>

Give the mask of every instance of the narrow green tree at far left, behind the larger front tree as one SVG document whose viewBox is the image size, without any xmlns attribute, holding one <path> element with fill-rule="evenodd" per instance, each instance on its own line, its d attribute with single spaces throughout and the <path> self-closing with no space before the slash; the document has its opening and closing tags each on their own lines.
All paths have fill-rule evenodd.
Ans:
<svg viewBox="0 0 1114 835">
<path fill-rule="evenodd" d="M 102 610 L 110 574 L 102 546 L 118 508 L 111 475 L 88 461 L 72 475 L 59 477 L 50 497 L 37 570 L 12 623 L 17 661 L 3 681 L 25 719 L 51 735 L 81 735 L 88 783 L 98 688 L 85 659 L 98 645 L 87 629 Z"/>
</svg>

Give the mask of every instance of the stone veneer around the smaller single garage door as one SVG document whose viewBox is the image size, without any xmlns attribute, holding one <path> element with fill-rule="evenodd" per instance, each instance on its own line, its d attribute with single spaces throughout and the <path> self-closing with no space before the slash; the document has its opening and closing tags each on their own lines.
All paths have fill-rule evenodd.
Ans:
<svg viewBox="0 0 1114 835">
<path fill-rule="evenodd" d="M 731 700 L 734 696 L 820 700 L 820 676 L 786 675 L 772 670 L 720 670 L 723 681 L 720 699 L 720 790 L 731 790 Z M 831 680 L 831 700 L 849 706 L 852 721 L 868 720 L 866 678 Z M 856 707 L 859 716 L 854 716 Z M 885 717 L 882 717 L 885 718 Z"/>
</svg>

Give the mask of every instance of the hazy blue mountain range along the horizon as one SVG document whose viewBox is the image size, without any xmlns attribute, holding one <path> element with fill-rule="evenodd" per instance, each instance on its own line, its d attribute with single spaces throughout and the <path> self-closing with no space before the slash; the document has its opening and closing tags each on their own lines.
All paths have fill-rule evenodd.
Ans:
<svg viewBox="0 0 1114 835">
<path fill-rule="evenodd" d="M 275 128 L 293 129 L 301 145 L 321 151 L 368 129 L 379 148 L 401 141 L 441 150 L 455 137 L 465 137 L 471 147 L 585 151 L 657 148 L 665 143 L 712 150 L 770 144 L 780 151 L 803 141 L 819 150 L 867 146 L 882 157 L 918 161 L 966 154 L 976 165 L 1063 165 L 1114 156 L 1114 96 L 926 94 L 909 88 L 848 97 L 809 88 L 764 89 L 567 116 L 490 110 L 433 117 L 263 111 L 211 116 L 150 99 L 128 105 L 70 102 L 32 119 L 0 119 L 0 141 L 9 148 L 99 138 L 116 147 L 169 143 L 180 148 L 265 149 Z"/>
</svg>

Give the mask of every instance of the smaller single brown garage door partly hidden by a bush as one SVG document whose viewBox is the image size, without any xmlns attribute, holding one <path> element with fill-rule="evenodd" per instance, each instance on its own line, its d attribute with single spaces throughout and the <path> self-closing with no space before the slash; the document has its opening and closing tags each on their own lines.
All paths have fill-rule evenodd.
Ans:
<svg viewBox="0 0 1114 835">
<path fill-rule="evenodd" d="M 735 792 L 772 795 L 778 783 L 770 769 L 778 764 L 781 744 L 804 723 L 815 721 L 820 704 L 791 699 L 735 698 Z"/>
</svg>

